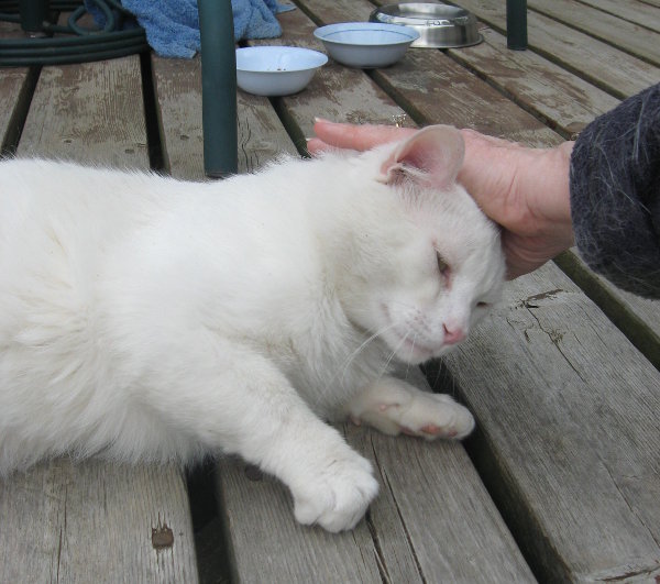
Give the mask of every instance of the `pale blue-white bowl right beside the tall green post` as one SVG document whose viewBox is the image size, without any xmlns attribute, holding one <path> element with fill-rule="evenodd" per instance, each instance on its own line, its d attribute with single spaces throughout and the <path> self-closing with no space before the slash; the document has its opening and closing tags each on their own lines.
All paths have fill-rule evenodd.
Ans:
<svg viewBox="0 0 660 584">
<path fill-rule="evenodd" d="M 237 84 L 256 96 L 290 96 L 305 89 L 326 63 L 322 53 L 297 46 L 237 48 Z"/>
</svg>

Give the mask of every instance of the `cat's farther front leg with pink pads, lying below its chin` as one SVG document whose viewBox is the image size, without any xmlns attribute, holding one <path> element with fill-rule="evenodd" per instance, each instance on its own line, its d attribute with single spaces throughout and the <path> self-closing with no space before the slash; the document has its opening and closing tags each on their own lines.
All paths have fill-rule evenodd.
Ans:
<svg viewBox="0 0 660 584">
<path fill-rule="evenodd" d="M 470 411 L 450 396 L 422 392 L 394 377 L 366 386 L 351 400 L 348 411 L 354 422 L 369 423 L 392 436 L 464 438 L 474 428 Z"/>
</svg>

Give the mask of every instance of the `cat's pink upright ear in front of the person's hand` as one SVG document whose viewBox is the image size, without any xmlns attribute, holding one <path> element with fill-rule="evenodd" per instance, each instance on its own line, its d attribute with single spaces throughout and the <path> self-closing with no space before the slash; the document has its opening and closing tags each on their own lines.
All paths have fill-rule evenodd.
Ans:
<svg viewBox="0 0 660 584">
<path fill-rule="evenodd" d="M 465 143 L 451 125 L 429 125 L 399 142 L 381 165 L 385 184 L 411 179 L 444 189 L 453 184 L 463 164 Z"/>
</svg>

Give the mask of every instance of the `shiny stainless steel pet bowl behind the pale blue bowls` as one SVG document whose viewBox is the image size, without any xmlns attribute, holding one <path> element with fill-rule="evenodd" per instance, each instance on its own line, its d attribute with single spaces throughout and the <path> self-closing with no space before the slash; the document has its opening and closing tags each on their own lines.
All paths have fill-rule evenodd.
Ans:
<svg viewBox="0 0 660 584">
<path fill-rule="evenodd" d="M 374 10 L 369 20 L 386 24 L 404 24 L 419 32 L 410 46 L 458 48 L 481 43 L 476 16 L 468 10 L 449 4 L 406 2 L 387 4 Z"/>
</svg>

